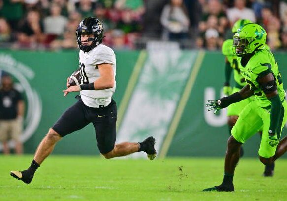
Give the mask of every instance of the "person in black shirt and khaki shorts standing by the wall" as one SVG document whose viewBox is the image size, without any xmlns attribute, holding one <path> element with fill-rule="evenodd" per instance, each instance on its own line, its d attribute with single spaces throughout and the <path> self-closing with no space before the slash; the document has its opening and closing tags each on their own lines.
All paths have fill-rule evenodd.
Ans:
<svg viewBox="0 0 287 201">
<path fill-rule="evenodd" d="M 24 101 L 20 92 L 13 87 L 12 78 L 3 74 L 0 88 L 0 141 L 4 154 L 9 154 L 8 140 L 15 142 L 15 152 L 22 154 L 22 134 Z"/>
</svg>

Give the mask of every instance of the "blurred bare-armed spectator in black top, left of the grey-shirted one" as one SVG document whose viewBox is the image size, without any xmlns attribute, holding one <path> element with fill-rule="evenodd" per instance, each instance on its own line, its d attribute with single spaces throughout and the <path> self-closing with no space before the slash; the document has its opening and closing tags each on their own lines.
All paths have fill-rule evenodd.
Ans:
<svg viewBox="0 0 287 201">
<path fill-rule="evenodd" d="M 44 40 L 40 13 L 34 9 L 29 10 L 26 19 L 20 25 L 16 47 L 35 48 L 37 43 L 42 43 Z"/>
</svg>

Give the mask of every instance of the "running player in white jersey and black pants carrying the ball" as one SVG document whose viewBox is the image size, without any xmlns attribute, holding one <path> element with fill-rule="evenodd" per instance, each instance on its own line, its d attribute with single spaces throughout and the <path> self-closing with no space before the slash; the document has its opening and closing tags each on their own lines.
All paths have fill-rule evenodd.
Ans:
<svg viewBox="0 0 287 201">
<path fill-rule="evenodd" d="M 79 101 L 68 108 L 58 119 L 39 144 L 31 166 L 24 171 L 11 171 L 11 176 L 29 184 L 40 164 L 53 151 L 56 143 L 65 135 L 93 123 L 96 131 L 97 146 L 107 159 L 126 156 L 144 151 L 148 158 L 156 157 L 155 139 L 148 137 L 143 142 L 116 141 L 117 107 L 112 95 L 116 88 L 116 57 L 113 50 L 102 45 L 103 27 L 93 17 L 83 19 L 76 31 L 80 48 L 79 70 L 81 84 L 63 90 L 64 96 L 80 91 Z"/>
</svg>

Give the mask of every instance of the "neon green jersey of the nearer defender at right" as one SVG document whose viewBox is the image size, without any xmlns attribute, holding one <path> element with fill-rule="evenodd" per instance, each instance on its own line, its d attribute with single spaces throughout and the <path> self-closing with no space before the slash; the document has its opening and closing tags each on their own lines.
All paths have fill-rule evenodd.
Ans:
<svg viewBox="0 0 287 201">
<path fill-rule="evenodd" d="M 273 73 L 274 77 L 276 78 L 277 91 L 280 100 L 284 99 L 285 91 L 283 89 L 282 78 L 274 56 L 267 48 L 256 51 L 245 67 L 241 65 L 241 59 L 241 57 L 237 59 L 238 66 L 241 74 L 245 78 L 245 81 L 254 91 L 255 100 L 258 106 L 269 107 L 271 105 L 271 102 L 267 99 L 265 93 L 260 89 L 259 83 L 257 82 L 257 79 L 260 76 L 267 75 L 270 72 Z"/>
</svg>

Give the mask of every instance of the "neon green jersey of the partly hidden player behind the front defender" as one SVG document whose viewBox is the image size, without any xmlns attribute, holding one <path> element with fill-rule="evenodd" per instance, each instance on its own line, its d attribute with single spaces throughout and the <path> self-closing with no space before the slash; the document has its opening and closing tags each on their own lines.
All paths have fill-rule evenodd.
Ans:
<svg viewBox="0 0 287 201">
<path fill-rule="evenodd" d="M 243 76 L 240 74 L 240 69 L 238 67 L 238 64 L 237 64 L 237 55 L 235 55 L 233 53 L 233 50 L 232 50 L 232 44 L 233 44 L 233 40 L 232 39 L 228 39 L 228 40 L 225 40 L 223 42 L 223 45 L 222 45 L 222 53 L 223 55 L 226 56 L 228 62 L 230 63 L 230 66 L 233 68 L 233 75 L 234 75 L 234 80 L 235 82 L 244 87 L 246 85 L 246 82 L 243 78 Z"/>
</svg>

